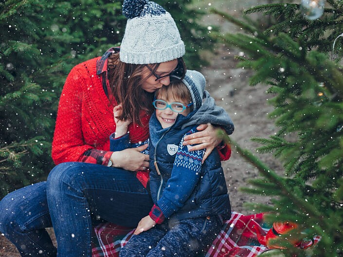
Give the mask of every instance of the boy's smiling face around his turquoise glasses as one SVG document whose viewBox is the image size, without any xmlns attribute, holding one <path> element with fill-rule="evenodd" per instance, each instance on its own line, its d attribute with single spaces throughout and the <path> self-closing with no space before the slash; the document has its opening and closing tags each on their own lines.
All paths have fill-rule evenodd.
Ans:
<svg viewBox="0 0 343 257">
<path fill-rule="evenodd" d="M 182 101 L 180 99 L 175 99 L 173 97 L 171 99 L 165 99 L 162 96 L 159 96 L 158 99 L 164 100 L 168 104 L 173 103 L 173 102 L 183 103 L 183 105 L 185 106 L 188 104 L 185 101 Z M 157 120 L 161 123 L 162 128 L 169 128 L 175 123 L 175 120 L 178 114 L 187 116 L 190 112 L 190 108 L 186 108 L 185 110 L 179 113 L 172 111 L 172 109 L 170 109 L 169 107 L 164 110 L 156 109 L 155 112 L 156 112 Z"/>
</svg>

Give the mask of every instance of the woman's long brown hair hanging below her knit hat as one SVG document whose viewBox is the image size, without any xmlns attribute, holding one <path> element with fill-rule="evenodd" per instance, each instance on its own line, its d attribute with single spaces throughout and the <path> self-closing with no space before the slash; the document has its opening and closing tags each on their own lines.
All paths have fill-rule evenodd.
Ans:
<svg viewBox="0 0 343 257">
<path fill-rule="evenodd" d="M 120 120 L 132 120 L 142 126 L 141 112 L 153 112 L 153 93 L 142 89 L 144 65 L 127 64 L 119 59 L 119 53 L 112 53 L 108 58 L 108 81 L 114 98 L 122 104 Z"/>
</svg>

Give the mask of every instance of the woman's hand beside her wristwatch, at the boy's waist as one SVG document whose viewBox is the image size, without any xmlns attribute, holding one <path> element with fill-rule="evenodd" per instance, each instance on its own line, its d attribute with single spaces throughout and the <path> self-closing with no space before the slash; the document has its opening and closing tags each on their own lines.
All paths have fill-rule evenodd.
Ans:
<svg viewBox="0 0 343 257">
<path fill-rule="evenodd" d="M 146 170 L 149 167 L 149 155 L 142 154 L 141 151 L 144 151 L 147 147 L 148 144 L 145 144 L 139 147 L 113 152 L 111 155 L 112 166 L 127 171 Z"/>
</svg>

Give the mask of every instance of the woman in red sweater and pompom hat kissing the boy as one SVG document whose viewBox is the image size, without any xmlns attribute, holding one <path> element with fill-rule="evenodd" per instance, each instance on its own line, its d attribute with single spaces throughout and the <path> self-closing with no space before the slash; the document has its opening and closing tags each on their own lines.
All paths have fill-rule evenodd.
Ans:
<svg viewBox="0 0 343 257">
<path fill-rule="evenodd" d="M 144 142 L 153 92 L 169 84 L 171 73 L 185 73 L 184 45 L 173 18 L 155 2 L 125 1 L 123 13 L 128 21 L 120 51 L 75 66 L 66 79 L 53 140 L 57 166 L 48 180 L 0 202 L 0 231 L 23 257 L 90 257 L 94 220 L 134 227 L 152 206 L 144 187 L 149 156 L 141 153 L 147 145 L 108 151 L 113 107 L 122 104 L 120 118 L 133 121 L 131 142 Z M 207 124 L 199 130 L 186 143 L 203 142 L 194 150 L 209 154 L 217 145 L 215 130 Z M 46 227 L 54 227 L 58 251 Z"/>
</svg>

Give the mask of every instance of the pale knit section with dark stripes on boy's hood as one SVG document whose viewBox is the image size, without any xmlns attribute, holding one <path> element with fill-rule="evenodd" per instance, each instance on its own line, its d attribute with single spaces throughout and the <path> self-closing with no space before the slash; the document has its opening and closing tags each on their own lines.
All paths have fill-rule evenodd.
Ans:
<svg viewBox="0 0 343 257">
<path fill-rule="evenodd" d="M 194 110 L 199 109 L 206 86 L 205 77 L 199 71 L 187 69 L 182 82 L 191 93 Z"/>
</svg>

